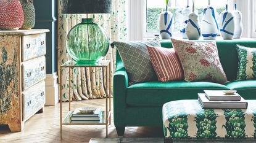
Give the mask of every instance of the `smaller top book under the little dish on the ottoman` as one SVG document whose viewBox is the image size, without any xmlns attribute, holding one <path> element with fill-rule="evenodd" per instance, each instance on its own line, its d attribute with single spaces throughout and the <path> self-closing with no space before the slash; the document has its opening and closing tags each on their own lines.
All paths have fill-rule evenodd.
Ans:
<svg viewBox="0 0 256 143">
<path fill-rule="evenodd" d="M 234 95 L 225 95 L 224 90 L 204 90 L 206 97 L 210 101 L 240 101 L 241 96 L 238 93 Z"/>
</svg>

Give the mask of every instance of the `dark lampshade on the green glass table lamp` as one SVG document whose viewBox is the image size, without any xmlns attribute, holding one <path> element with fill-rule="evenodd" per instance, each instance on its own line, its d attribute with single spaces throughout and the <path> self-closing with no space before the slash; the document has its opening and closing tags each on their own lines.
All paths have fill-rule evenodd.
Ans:
<svg viewBox="0 0 256 143">
<path fill-rule="evenodd" d="M 110 14 L 112 0 L 62 0 L 62 14 Z"/>
</svg>

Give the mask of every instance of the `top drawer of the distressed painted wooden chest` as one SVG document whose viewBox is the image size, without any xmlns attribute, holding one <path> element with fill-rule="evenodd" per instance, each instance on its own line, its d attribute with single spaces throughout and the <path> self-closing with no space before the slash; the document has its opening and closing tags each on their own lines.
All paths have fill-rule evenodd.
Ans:
<svg viewBox="0 0 256 143">
<path fill-rule="evenodd" d="M 46 34 L 22 36 L 22 61 L 46 54 Z"/>
</svg>

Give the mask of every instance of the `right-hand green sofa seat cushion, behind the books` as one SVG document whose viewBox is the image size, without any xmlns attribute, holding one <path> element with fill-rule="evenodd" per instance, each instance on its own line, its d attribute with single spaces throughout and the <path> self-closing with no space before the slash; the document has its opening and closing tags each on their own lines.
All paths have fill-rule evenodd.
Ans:
<svg viewBox="0 0 256 143">
<path fill-rule="evenodd" d="M 256 99 L 256 80 L 230 82 L 226 84 L 226 87 L 237 90 L 237 93 L 244 99 Z"/>
</svg>

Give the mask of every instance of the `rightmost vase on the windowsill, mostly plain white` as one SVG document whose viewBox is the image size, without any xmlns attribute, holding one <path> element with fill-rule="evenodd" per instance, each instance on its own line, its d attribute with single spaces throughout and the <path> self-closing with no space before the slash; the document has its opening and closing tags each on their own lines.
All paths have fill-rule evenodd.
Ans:
<svg viewBox="0 0 256 143">
<path fill-rule="evenodd" d="M 236 4 L 234 4 L 234 9 L 234 38 L 239 39 L 241 38 L 244 29 L 242 26 L 242 13 L 236 9 Z"/>
</svg>

